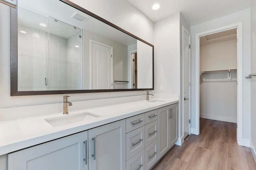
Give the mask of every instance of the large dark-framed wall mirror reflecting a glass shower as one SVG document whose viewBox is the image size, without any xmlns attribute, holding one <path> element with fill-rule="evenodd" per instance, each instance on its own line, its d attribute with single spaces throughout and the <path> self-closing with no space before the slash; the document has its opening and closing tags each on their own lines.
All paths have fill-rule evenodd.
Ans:
<svg viewBox="0 0 256 170">
<path fill-rule="evenodd" d="M 11 96 L 154 89 L 154 46 L 68 0 L 11 9 Z"/>
</svg>

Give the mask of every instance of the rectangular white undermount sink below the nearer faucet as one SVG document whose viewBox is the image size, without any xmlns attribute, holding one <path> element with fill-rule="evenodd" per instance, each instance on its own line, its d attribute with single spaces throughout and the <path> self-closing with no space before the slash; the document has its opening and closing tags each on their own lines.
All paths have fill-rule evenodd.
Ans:
<svg viewBox="0 0 256 170">
<path fill-rule="evenodd" d="M 76 113 L 76 114 L 62 115 L 59 117 L 52 117 L 44 120 L 47 121 L 53 127 L 58 127 L 58 126 L 68 125 L 71 123 L 76 123 L 79 121 L 84 121 L 84 120 L 93 119 L 97 117 L 101 117 L 101 116 L 90 113 L 90 112 L 82 112 L 82 113 Z"/>
</svg>

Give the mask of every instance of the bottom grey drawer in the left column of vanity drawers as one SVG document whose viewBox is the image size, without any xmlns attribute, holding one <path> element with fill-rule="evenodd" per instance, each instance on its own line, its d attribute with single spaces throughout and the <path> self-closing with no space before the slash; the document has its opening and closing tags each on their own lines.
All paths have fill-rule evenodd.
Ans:
<svg viewBox="0 0 256 170">
<path fill-rule="evenodd" d="M 145 170 L 145 149 L 126 162 L 126 170 Z"/>
</svg>

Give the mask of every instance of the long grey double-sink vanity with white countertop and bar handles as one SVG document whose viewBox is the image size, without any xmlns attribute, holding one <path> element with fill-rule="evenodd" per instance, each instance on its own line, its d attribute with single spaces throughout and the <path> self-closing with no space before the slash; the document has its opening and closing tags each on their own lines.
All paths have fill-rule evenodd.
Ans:
<svg viewBox="0 0 256 170">
<path fill-rule="evenodd" d="M 63 116 L 73 119 L 84 113 L 98 117 L 63 123 Z M 143 100 L 17 119 L 1 123 L 0 129 L 10 126 L 9 139 L 3 130 L 0 133 L 8 170 L 148 170 L 178 140 L 178 100 Z"/>
</svg>

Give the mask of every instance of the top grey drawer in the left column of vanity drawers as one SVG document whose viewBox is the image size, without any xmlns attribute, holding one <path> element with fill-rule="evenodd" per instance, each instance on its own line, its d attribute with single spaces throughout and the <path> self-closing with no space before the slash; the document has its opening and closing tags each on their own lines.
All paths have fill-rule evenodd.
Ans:
<svg viewBox="0 0 256 170">
<path fill-rule="evenodd" d="M 126 133 L 145 125 L 145 113 L 126 118 Z"/>
</svg>

